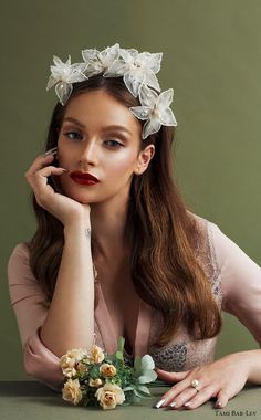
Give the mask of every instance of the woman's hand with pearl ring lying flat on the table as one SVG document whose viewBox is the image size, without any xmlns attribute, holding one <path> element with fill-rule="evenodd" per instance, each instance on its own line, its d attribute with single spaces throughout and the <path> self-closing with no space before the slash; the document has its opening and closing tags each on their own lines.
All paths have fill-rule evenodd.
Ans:
<svg viewBox="0 0 261 420">
<path fill-rule="evenodd" d="M 158 378 L 166 382 L 177 382 L 155 406 L 173 409 L 195 409 L 210 398 L 216 398 L 215 408 L 222 408 L 244 387 L 249 379 L 251 353 L 242 351 L 226 356 L 212 364 L 182 372 L 155 369 Z M 197 380 L 197 389 L 191 385 Z M 196 382 L 197 384 L 197 382 Z"/>
</svg>

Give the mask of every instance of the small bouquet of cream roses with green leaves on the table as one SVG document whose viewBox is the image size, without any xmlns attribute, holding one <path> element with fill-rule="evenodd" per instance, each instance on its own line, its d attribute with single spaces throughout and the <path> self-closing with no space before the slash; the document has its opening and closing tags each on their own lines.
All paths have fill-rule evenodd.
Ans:
<svg viewBox="0 0 261 420">
<path fill-rule="evenodd" d="M 124 338 L 119 337 L 117 351 L 107 355 L 94 345 L 86 349 L 72 349 L 60 359 L 65 376 L 62 397 L 74 406 L 102 406 L 113 409 L 118 405 L 139 402 L 150 398 L 145 386 L 155 381 L 157 374 L 149 355 L 136 356 L 130 367 L 124 359 Z"/>
</svg>

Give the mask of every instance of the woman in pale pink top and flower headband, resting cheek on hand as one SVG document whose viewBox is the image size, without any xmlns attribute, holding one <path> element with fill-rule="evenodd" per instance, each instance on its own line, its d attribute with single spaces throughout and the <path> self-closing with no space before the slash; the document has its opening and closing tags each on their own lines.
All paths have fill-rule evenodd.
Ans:
<svg viewBox="0 0 261 420">
<path fill-rule="evenodd" d="M 94 340 L 111 354 L 122 335 L 126 357 L 149 353 L 175 382 L 157 408 L 225 407 L 261 384 L 261 350 L 212 361 L 221 309 L 261 342 L 260 267 L 182 202 L 161 54 L 116 44 L 82 55 L 54 57 L 60 103 L 25 174 L 39 225 L 9 261 L 25 370 L 60 389 L 63 354 Z"/>
</svg>

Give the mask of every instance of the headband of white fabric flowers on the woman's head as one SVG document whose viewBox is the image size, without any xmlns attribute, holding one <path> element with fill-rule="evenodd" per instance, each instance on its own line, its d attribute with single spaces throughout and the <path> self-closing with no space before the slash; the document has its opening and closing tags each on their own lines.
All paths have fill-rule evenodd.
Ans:
<svg viewBox="0 0 261 420">
<path fill-rule="evenodd" d="M 122 76 L 128 91 L 138 97 L 140 106 L 132 106 L 129 111 L 142 120 L 142 138 L 157 133 L 161 125 L 177 126 L 177 120 L 170 109 L 174 91 L 160 92 L 156 74 L 160 70 L 163 53 L 139 53 L 137 50 L 121 49 L 119 44 L 107 46 L 103 51 L 82 50 L 83 63 L 71 64 L 71 56 L 63 63 L 53 56 L 55 65 L 51 65 L 51 75 L 46 90 L 55 85 L 55 93 L 62 105 L 69 99 L 73 83 L 83 82 L 96 74 L 104 77 Z"/>
</svg>

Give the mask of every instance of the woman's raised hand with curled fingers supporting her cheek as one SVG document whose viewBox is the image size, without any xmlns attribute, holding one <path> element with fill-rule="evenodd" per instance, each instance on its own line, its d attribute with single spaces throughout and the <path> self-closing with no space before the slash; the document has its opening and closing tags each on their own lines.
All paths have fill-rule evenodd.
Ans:
<svg viewBox="0 0 261 420">
<path fill-rule="evenodd" d="M 51 166 L 54 155 L 40 155 L 25 172 L 25 178 L 33 189 L 39 206 L 52 213 L 64 225 L 74 220 L 87 220 L 90 222 L 88 204 L 82 204 L 62 193 L 58 193 L 48 183 L 48 177 L 62 176 L 66 169 Z M 82 219 L 81 219 L 82 218 Z"/>
</svg>

